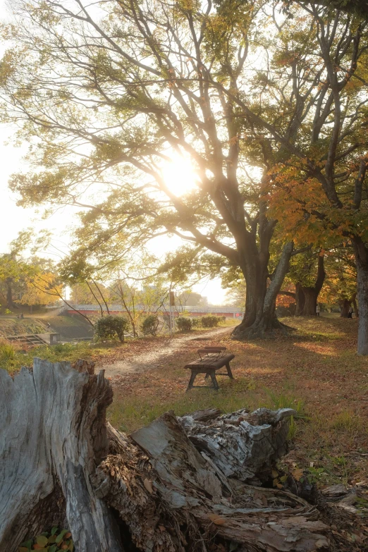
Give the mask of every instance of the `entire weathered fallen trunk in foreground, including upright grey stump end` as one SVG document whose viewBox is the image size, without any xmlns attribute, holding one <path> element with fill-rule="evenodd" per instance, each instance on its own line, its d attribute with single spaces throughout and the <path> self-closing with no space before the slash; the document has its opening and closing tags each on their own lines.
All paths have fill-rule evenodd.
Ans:
<svg viewBox="0 0 368 552">
<path fill-rule="evenodd" d="M 314 507 L 243 482 L 264 477 L 273 461 L 254 454 L 285 445 L 285 411 L 168 412 L 127 437 L 106 426 L 111 386 L 87 363 L 35 359 L 14 380 L 1 370 L 0 390 L 1 551 L 16 552 L 64 518 L 77 552 L 328 548 Z M 243 450 L 232 452 L 228 474 L 224 449 L 214 452 L 221 435 L 229 450 Z"/>
</svg>

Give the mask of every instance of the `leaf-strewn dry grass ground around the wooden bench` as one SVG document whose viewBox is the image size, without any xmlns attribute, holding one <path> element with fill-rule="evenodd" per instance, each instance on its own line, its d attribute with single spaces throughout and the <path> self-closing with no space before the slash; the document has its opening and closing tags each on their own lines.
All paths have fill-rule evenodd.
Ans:
<svg viewBox="0 0 368 552">
<path fill-rule="evenodd" d="M 288 462 L 324 468 L 321 484 L 367 480 L 368 358 L 355 354 L 357 321 L 313 317 L 286 319 L 289 337 L 240 343 L 230 331 L 219 340 L 235 354 L 233 381 L 219 378 L 220 390 L 185 393 L 198 341 L 145 374 L 116 377 L 111 423 L 123 431 L 147 424 L 166 410 L 180 415 L 199 408 L 294 407 L 293 447 Z M 137 354 L 137 350 L 135 354 Z M 200 376 L 198 376 L 200 379 Z M 196 381 L 197 383 L 197 381 Z"/>
</svg>

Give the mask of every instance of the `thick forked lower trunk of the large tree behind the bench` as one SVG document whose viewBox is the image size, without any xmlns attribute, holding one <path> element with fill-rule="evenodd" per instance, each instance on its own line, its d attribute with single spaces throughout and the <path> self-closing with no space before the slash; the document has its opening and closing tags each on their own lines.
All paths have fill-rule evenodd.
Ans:
<svg viewBox="0 0 368 552">
<path fill-rule="evenodd" d="M 281 258 L 268 287 L 268 257 L 259 255 L 257 262 L 252 266 L 247 264 L 244 270 L 247 286 L 245 317 L 233 330 L 233 338 L 263 338 L 266 331 L 285 327 L 276 317 L 276 297 L 288 272 L 292 253 L 293 243 L 290 242 L 283 247 Z"/>
</svg>

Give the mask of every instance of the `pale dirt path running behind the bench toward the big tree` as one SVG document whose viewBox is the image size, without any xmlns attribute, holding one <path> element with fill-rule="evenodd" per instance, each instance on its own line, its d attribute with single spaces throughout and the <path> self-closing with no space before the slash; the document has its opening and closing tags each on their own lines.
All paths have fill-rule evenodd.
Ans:
<svg viewBox="0 0 368 552">
<path fill-rule="evenodd" d="M 118 362 L 114 364 L 103 364 L 101 368 L 105 370 L 105 376 L 111 378 L 114 376 L 123 376 L 125 374 L 145 372 L 148 369 L 158 367 L 167 357 L 176 352 L 180 352 L 180 348 L 188 341 L 197 341 L 200 347 L 201 341 L 220 336 L 228 331 L 231 331 L 231 328 L 217 328 L 216 330 L 202 332 L 196 337 L 190 334 L 190 336 L 168 339 L 164 343 L 159 343 L 159 345 L 149 350 L 149 352 L 137 355 L 133 361 L 118 360 Z"/>
</svg>

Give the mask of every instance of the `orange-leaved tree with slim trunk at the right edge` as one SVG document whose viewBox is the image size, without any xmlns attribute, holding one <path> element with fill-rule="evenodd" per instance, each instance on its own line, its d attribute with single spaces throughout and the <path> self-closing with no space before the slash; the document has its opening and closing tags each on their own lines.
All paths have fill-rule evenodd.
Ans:
<svg viewBox="0 0 368 552">
<path fill-rule="evenodd" d="M 250 141 L 281 145 L 268 199 L 283 231 L 320 247 L 352 244 L 357 350 L 367 355 L 368 20 L 313 2 L 289 10 L 286 19 L 272 16 L 278 32 L 269 32 L 268 63 L 259 70 L 259 109 L 233 91 L 228 97 L 253 124 Z"/>
</svg>

